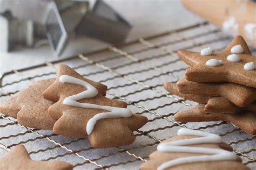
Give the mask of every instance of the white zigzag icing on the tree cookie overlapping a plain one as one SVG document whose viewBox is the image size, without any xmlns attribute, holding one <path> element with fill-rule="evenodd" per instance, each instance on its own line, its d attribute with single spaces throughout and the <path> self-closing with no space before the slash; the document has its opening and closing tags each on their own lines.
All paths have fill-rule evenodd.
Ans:
<svg viewBox="0 0 256 170">
<path fill-rule="evenodd" d="M 60 76 L 59 81 L 62 83 L 78 84 L 78 85 L 84 86 L 86 88 L 85 91 L 82 91 L 79 94 L 66 97 L 63 101 L 63 104 L 71 105 L 73 107 L 79 107 L 79 108 L 103 109 L 103 110 L 109 111 L 109 112 L 99 113 L 99 114 L 93 116 L 87 122 L 86 132 L 88 135 L 91 134 L 93 127 L 95 126 L 96 122 L 99 119 L 132 116 L 132 112 L 127 108 L 116 108 L 116 107 L 110 107 L 110 106 L 105 106 L 105 105 L 77 102 L 78 100 L 81 100 L 83 98 L 92 98 L 92 97 L 97 96 L 98 90 L 95 87 L 93 87 L 90 83 L 87 83 L 83 80 L 77 79 L 76 77 L 72 77 L 69 75 Z"/>
</svg>

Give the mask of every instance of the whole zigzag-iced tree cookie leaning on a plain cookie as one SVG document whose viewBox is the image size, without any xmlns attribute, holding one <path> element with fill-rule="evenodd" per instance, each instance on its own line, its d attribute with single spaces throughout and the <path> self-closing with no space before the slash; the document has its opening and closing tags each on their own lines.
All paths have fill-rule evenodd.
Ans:
<svg viewBox="0 0 256 170">
<path fill-rule="evenodd" d="M 57 102 L 48 110 L 57 119 L 53 131 L 67 137 L 88 137 L 93 147 L 133 143 L 132 131 L 141 128 L 147 118 L 132 114 L 125 102 L 106 98 L 106 89 L 60 65 L 56 81 L 43 93 L 47 100 Z"/>
</svg>

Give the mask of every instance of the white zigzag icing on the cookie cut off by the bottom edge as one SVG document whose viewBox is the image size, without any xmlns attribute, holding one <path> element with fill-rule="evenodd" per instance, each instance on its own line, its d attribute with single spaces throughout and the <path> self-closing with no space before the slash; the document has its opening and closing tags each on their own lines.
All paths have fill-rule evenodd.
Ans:
<svg viewBox="0 0 256 170">
<path fill-rule="evenodd" d="M 157 150 L 160 152 L 205 153 L 206 155 L 173 159 L 161 164 L 157 168 L 158 170 L 193 162 L 237 160 L 237 155 L 223 149 L 186 146 L 195 144 L 220 144 L 222 143 L 222 139 L 217 134 L 181 128 L 178 130 L 177 135 L 193 135 L 199 137 L 161 143 L 157 146 Z"/>
</svg>

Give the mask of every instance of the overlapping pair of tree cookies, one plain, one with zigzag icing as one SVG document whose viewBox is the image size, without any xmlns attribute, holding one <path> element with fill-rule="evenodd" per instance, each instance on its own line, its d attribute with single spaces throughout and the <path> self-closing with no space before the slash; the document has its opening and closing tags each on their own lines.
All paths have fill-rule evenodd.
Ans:
<svg viewBox="0 0 256 170">
<path fill-rule="evenodd" d="M 146 124 L 147 118 L 132 114 L 127 103 L 105 97 L 106 90 L 104 84 L 60 65 L 56 79 L 41 80 L 19 91 L 0 103 L 0 112 L 30 128 L 89 138 L 93 147 L 129 145 L 135 140 L 133 131 Z"/>
</svg>

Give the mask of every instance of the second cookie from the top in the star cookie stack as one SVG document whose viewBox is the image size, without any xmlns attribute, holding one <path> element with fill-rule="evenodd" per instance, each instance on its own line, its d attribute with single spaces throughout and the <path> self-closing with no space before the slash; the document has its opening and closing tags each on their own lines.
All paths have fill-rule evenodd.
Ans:
<svg viewBox="0 0 256 170">
<path fill-rule="evenodd" d="M 177 82 L 180 93 L 204 96 L 222 96 L 239 107 L 246 107 L 256 100 L 256 89 L 234 83 L 201 83 L 185 78 Z"/>
</svg>

